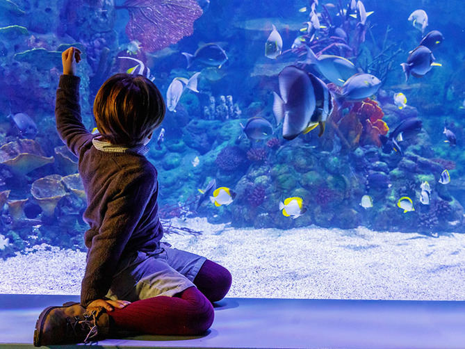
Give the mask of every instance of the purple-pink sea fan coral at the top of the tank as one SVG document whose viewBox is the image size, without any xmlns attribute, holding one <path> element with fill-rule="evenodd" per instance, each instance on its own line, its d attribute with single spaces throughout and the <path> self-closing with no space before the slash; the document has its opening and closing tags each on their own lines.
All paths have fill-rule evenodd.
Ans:
<svg viewBox="0 0 465 349">
<path fill-rule="evenodd" d="M 192 35 L 195 19 L 203 13 L 195 0 L 127 0 L 116 8 L 129 11 L 129 40 L 139 40 L 145 51 L 152 52 Z"/>
</svg>

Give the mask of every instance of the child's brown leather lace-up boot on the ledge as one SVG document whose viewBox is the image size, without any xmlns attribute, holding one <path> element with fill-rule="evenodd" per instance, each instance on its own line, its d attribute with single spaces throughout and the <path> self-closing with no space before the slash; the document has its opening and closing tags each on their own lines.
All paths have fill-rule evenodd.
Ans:
<svg viewBox="0 0 465 349">
<path fill-rule="evenodd" d="M 48 307 L 35 323 L 34 346 L 89 343 L 108 337 L 110 316 L 103 307 L 90 313 L 77 302 Z"/>
</svg>

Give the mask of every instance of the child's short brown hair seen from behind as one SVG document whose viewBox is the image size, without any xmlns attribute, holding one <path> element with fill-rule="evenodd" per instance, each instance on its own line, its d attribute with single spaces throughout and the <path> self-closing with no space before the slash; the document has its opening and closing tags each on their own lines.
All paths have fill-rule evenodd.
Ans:
<svg viewBox="0 0 465 349">
<path fill-rule="evenodd" d="M 115 74 L 95 96 L 97 129 L 115 145 L 133 147 L 142 143 L 160 126 L 165 111 L 160 91 L 142 75 Z"/>
</svg>

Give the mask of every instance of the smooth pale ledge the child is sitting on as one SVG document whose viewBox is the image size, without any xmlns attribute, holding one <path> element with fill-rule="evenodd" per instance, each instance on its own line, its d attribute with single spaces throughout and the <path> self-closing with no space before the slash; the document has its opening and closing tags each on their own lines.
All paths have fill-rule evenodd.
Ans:
<svg viewBox="0 0 465 349">
<path fill-rule="evenodd" d="M 40 311 L 78 299 L 0 295 L 0 348 L 33 348 Z M 465 348 L 465 302 L 226 298 L 218 306 L 204 336 L 144 335 L 94 344 L 96 348 Z"/>
</svg>

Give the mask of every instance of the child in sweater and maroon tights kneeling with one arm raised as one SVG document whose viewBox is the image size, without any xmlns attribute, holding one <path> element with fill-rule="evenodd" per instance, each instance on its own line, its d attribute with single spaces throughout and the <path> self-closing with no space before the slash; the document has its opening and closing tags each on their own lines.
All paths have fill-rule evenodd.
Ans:
<svg viewBox="0 0 465 349">
<path fill-rule="evenodd" d="M 56 127 L 79 157 L 90 229 L 81 303 L 48 307 L 35 325 L 34 346 L 99 340 L 120 332 L 202 334 L 213 323 L 211 302 L 225 297 L 231 274 L 197 254 L 161 243 L 158 181 L 147 143 L 165 103 L 142 75 L 115 74 L 94 103 L 99 133 L 81 122 L 81 51 L 63 52 L 56 92 Z"/>
</svg>

